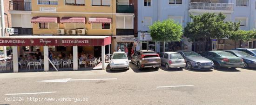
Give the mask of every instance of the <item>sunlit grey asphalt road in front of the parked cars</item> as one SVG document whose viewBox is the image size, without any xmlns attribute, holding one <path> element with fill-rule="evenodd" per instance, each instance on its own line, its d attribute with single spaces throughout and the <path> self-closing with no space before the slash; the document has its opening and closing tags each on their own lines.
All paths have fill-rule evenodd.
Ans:
<svg viewBox="0 0 256 105">
<path fill-rule="evenodd" d="M 256 69 L 1 73 L 0 87 L 10 105 L 255 105 Z"/>
</svg>

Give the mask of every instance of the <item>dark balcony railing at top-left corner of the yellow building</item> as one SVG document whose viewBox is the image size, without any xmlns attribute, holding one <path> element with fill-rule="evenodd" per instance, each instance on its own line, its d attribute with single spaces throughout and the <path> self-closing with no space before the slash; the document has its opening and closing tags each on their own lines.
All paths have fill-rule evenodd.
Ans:
<svg viewBox="0 0 256 105">
<path fill-rule="evenodd" d="M 31 11 L 31 2 L 9 1 L 9 9 L 15 11 Z"/>
</svg>

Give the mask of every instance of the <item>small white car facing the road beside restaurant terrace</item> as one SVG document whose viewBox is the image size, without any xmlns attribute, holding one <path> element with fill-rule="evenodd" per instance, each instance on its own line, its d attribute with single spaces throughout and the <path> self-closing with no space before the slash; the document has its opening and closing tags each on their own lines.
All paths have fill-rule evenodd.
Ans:
<svg viewBox="0 0 256 105">
<path fill-rule="evenodd" d="M 114 52 L 110 62 L 110 71 L 129 70 L 130 63 L 125 52 Z"/>
</svg>

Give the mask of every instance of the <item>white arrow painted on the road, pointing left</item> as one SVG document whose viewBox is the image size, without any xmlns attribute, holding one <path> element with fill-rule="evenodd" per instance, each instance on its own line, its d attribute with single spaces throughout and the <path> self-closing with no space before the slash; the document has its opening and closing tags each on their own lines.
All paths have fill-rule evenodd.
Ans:
<svg viewBox="0 0 256 105">
<path fill-rule="evenodd" d="M 40 80 L 38 82 L 62 82 L 62 83 L 66 83 L 67 81 L 86 81 L 86 80 L 116 80 L 116 78 L 114 79 L 52 79 L 52 80 Z"/>
</svg>

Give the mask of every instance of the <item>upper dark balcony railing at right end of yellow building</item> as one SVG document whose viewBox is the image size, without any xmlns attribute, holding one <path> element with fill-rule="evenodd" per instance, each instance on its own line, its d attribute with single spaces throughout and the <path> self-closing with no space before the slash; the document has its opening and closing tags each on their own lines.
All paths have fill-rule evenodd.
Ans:
<svg viewBox="0 0 256 105">
<path fill-rule="evenodd" d="M 134 6 L 130 5 L 117 5 L 116 13 L 134 13 Z"/>
</svg>

